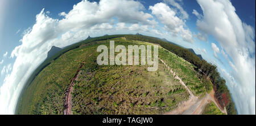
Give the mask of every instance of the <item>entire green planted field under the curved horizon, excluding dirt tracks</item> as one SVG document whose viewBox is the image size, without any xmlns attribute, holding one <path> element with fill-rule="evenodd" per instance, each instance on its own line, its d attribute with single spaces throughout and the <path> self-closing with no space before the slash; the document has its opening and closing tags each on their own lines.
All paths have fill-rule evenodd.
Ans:
<svg viewBox="0 0 256 126">
<path fill-rule="evenodd" d="M 112 38 L 116 45 L 148 45 L 141 41 Z M 109 40 L 81 44 L 45 67 L 24 90 L 17 114 L 63 114 L 65 92 L 79 70 L 72 92 L 72 114 L 163 114 L 188 99 L 188 92 L 159 62 L 158 71 L 148 66 L 98 66 L 98 45 Z M 203 97 L 207 87 L 192 64 L 159 48 L 159 58 L 173 68 L 193 94 Z M 207 88 L 208 89 L 208 88 Z"/>
</svg>

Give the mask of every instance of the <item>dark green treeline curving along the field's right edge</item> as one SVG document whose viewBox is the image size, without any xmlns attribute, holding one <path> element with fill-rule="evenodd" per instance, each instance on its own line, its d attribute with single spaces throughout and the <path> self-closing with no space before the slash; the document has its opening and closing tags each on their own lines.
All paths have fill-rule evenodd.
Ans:
<svg viewBox="0 0 256 126">
<path fill-rule="evenodd" d="M 217 67 L 214 64 L 208 63 L 204 59 L 201 60 L 188 49 L 162 41 L 159 38 L 135 35 L 126 35 L 125 38 L 127 40 L 138 40 L 159 44 L 164 47 L 164 49 L 171 51 L 177 56 L 195 65 L 197 67 L 195 69 L 196 71 L 199 71 L 203 76 L 209 77 L 212 81 L 215 97 L 218 99 L 218 103 L 220 103 L 221 107 L 226 107 L 228 114 L 236 114 L 228 87 L 225 85 L 226 81 L 220 76 L 220 73 L 217 71 Z"/>
</svg>

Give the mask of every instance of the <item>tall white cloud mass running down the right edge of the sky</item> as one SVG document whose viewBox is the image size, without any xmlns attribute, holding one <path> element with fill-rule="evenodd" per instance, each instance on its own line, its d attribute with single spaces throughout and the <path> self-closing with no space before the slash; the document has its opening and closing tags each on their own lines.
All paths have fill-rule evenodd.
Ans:
<svg viewBox="0 0 256 126">
<path fill-rule="evenodd" d="M 229 75 L 235 81 L 227 81 L 227 85 L 238 114 L 255 114 L 255 30 L 241 21 L 228 0 L 197 0 L 197 3 L 203 10 L 197 27 L 216 38 L 232 60 L 233 71 Z M 212 44 L 212 47 L 215 46 Z M 219 49 L 215 49 L 214 52 L 218 53 Z M 225 79 L 232 80 L 230 76 L 225 76 Z"/>
</svg>

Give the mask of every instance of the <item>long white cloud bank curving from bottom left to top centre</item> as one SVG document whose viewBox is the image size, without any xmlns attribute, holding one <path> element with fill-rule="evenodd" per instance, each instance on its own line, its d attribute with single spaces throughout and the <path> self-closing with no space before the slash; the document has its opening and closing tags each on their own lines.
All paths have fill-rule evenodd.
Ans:
<svg viewBox="0 0 256 126">
<path fill-rule="evenodd" d="M 36 15 L 36 23 L 23 32 L 22 44 L 11 52 L 11 58 L 16 58 L 13 66 L 3 70 L 7 74 L 0 88 L 0 114 L 14 114 L 20 91 L 34 69 L 46 59 L 51 46 L 65 47 L 89 34 L 99 36 L 112 33 L 115 28 L 148 31 L 157 22 L 143 10 L 138 1 L 81 1 L 71 11 L 61 12 L 60 20 L 50 18 L 43 9 Z M 113 19 L 118 22 L 115 26 Z"/>
</svg>

